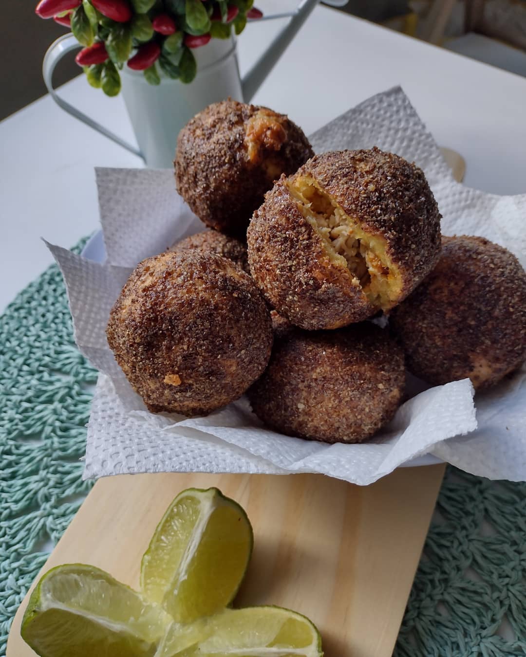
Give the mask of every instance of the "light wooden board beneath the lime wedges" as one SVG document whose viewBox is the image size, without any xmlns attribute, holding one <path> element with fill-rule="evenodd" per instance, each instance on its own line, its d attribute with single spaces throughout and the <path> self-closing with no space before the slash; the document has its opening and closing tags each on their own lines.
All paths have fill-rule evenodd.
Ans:
<svg viewBox="0 0 526 657">
<path fill-rule="evenodd" d="M 326 657 L 389 657 L 443 472 L 443 465 L 401 468 L 365 487 L 315 474 L 101 479 L 42 573 L 84 562 L 137 587 L 141 555 L 172 499 L 190 486 L 217 486 L 243 505 L 254 528 L 236 606 L 279 604 L 306 614 L 322 633 Z M 26 602 L 7 657 L 35 657 L 20 637 Z"/>
</svg>

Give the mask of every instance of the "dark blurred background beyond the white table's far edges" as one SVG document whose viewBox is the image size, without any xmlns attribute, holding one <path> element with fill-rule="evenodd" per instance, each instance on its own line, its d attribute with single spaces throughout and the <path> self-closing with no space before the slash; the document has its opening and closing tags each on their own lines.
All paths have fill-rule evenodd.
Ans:
<svg viewBox="0 0 526 657">
<path fill-rule="evenodd" d="M 0 41 L 8 53 L 0 59 L 0 120 L 46 93 L 43 55 L 67 31 L 38 18 L 36 3 L 2 0 Z M 266 0 L 256 5 L 266 10 Z M 354 14 L 526 77 L 526 0 L 348 0 L 331 11 Z M 66 58 L 55 84 L 78 74 L 73 58 Z"/>
</svg>

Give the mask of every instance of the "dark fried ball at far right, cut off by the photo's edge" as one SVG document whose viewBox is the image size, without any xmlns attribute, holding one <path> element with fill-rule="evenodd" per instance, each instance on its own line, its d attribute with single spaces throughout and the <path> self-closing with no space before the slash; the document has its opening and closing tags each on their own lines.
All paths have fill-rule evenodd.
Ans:
<svg viewBox="0 0 526 657">
<path fill-rule="evenodd" d="M 389 325 L 419 378 L 489 388 L 526 360 L 526 273 L 487 239 L 442 237 L 439 263 Z"/>
</svg>

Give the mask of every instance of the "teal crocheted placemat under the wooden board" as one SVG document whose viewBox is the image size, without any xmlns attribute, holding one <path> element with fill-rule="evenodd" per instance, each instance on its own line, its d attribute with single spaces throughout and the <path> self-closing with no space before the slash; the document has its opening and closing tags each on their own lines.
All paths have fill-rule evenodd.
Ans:
<svg viewBox="0 0 526 657">
<path fill-rule="evenodd" d="M 53 265 L 0 317 L 0 657 L 43 546 L 89 489 L 79 459 L 96 378 Z M 504 655 L 526 655 L 526 484 L 448 468 L 395 656 Z"/>
</svg>

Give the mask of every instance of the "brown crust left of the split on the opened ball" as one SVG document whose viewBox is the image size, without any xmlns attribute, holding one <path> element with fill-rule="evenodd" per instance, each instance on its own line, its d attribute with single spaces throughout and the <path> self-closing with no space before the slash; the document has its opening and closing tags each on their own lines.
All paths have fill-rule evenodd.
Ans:
<svg viewBox="0 0 526 657">
<path fill-rule="evenodd" d="M 306 330 L 339 328 L 375 312 L 345 267 L 335 267 L 281 177 L 254 212 L 252 277 L 270 305 Z"/>
</svg>

